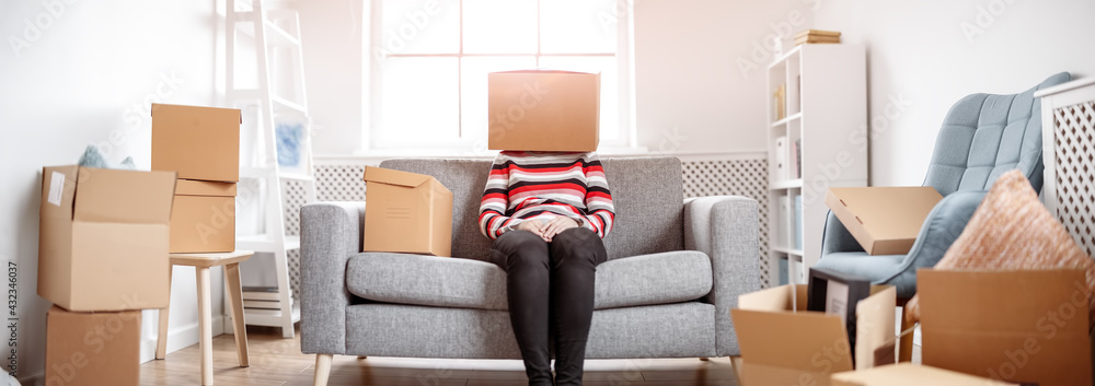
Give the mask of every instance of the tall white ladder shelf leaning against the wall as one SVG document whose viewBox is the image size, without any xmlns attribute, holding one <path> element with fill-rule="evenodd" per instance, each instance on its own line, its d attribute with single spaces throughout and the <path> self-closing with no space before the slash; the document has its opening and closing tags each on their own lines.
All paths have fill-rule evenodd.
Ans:
<svg viewBox="0 0 1095 386">
<path fill-rule="evenodd" d="M 226 98 L 230 105 L 244 112 L 244 120 L 254 122 L 253 141 L 241 139 L 241 147 L 253 145 L 250 162 L 241 160 L 240 179 L 251 182 L 260 190 L 265 187 L 263 207 L 260 210 L 263 234 L 237 235 L 237 248 L 274 255 L 277 288 L 267 290 L 244 290 L 244 320 L 247 325 L 280 327 L 281 336 L 293 337 L 293 324 L 300 320 L 300 306 L 293 303 L 289 282 L 288 252 L 300 248 L 300 236 L 286 235 L 283 202 L 283 182 L 304 182 L 306 202 L 315 201 L 315 184 L 312 177 L 311 149 L 307 134 L 308 102 L 304 97 L 303 60 L 300 44 L 300 21 L 291 10 L 264 10 L 261 0 L 228 0 L 226 24 Z M 241 43 L 242 38 L 247 38 Z M 249 63 L 238 47 L 254 47 L 255 83 L 241 87 L 237 79 L 237 66 Z M 285 58 L 289 59 L 286 60 Z M 238 61 L 242 61 L 238 62 Z M 250 63 L 249 63 L 250 65 Z M 287 81 L 286 73 L 277 71 L 287 66 L 291 69 L 287 89 L 279 87 Z M 281 95 L 287 93 L 290 95 Z M 249 108 L 250 107 L 250 108 Z M 250 113 L 250 116 L 249 116 Z M 300 157 L 304 172 L 285 173 L 278 165 L 277 120 L 292 117 L 304 129 L 301 133 Z M 243 154 L 247 154 L 241 149 Z M 245 155 L 246 156 L 246 155 Z M 258 191 L 251 197 L 260 198 Z M 239 213 L 238 213 L 239 215 Z M 238 219 L 240 221 L 240 219 Z M 257 255 L 256 255 L 257 257 Z M 226 318 L 226 330 L 231 330 L 231 320 Z"/>
</svg>

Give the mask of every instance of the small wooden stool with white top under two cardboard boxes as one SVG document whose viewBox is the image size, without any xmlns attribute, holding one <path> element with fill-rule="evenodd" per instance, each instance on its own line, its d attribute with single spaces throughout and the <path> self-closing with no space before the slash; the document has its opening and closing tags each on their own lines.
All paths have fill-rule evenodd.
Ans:
<svg viewBox="0 0 1095 386">
<path fill-rule="evenodd" d="M 254 255 L 251 250 L 224 254 L 171 254 L 172 266 L 194 267 L 198 284 L 198 344 L 201 349 L 201 385 L 212 385 L 212 311 L 209 288 L 209 268 L 224 266 L 224 284 L 228 305 L 232 308 L 235 329 L 235 350 L 240 366 L 250 365 L 247 359 L 247 330 L 243 323 L 243 288 L 240 286 L 240 262 Z M 171 276 L 168 276 L 171 286 Z M 170 304 L 170 299 L 169 299 Z M 160 338 L 155 341 L 155 359 L 163 359 L 168 351 L 168 307 L 160 309 Z"/>
</svg>

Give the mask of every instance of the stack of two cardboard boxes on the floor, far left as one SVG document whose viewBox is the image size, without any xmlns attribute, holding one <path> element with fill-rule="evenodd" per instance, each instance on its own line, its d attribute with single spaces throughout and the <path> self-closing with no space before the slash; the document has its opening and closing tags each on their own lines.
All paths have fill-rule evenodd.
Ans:
<svg viewBox="0 0 1095 386">
<path fill-rule="evenodd" d="M 43 169 L 47 385 L 137 385 L 140 312 L 168 305 L 173 172 Z"/>
</svg>

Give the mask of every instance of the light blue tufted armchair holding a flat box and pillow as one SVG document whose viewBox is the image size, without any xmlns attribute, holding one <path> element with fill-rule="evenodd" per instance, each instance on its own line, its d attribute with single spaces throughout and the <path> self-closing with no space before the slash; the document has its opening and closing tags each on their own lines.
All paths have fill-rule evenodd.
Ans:
<svg viewBox="0 0 1095 386">
<path fill-rule="evenodd" d="M 868 256 L 829 212 L 817 267 L 894 285 L 903 304 L 917 293 L 917 269 L 934 267 L 943 258 L 996 177 L 1017 168 L 1041 191 L 1041 103 L 1034 93 L 1071 78 L 1061 72 L 1019 94 L 959 100 L 943 121 L 924 179 L 943 200 L 929 213 L 909 254 Z M 903 324 L 902 330 L 909 327 Z M 911 356 L 911 338 L 902 338 L 902 361 Z"/>
</svg>

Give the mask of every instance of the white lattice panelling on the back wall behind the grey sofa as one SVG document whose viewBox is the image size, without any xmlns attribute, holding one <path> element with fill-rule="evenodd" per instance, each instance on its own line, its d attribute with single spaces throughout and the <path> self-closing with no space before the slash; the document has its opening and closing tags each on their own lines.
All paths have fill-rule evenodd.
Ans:
<svg viewBox="0 0 1095 386">
<path fill-rule="evenodd" d="M 768 258 L 768 162 L 764 159 L 685 161 L 682 163 L 684 197 L 744 196 L 760 203 L 761 283 L 769 283 Z M 365 201 L 364 165 L 327 164 L 315 166 L 315 195 L 319 201 Z M 287 195 L 288 196 L 288 195 Z M 288 203 L 287 203 L 288 207 Z M 298 207 L 299 208 L 299 207 Z M 299 223 L 299 219 L 296 220 Z M 290 223 L 286 218 L 286 224 Z M 292 233 L 297 234 L 297 233 Z M 290 255 L 290 261 L 299 261 Z M 291 265 L 291 264 L 290 264 Z M 299 262 L 298 262 L 299 267 Z M 290 267 L 290 272 L 297 272 Z M 290 274 L 299 282 L 299 274 Z"/>
</svg>

